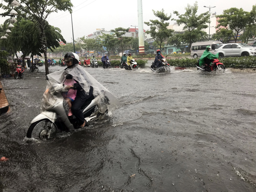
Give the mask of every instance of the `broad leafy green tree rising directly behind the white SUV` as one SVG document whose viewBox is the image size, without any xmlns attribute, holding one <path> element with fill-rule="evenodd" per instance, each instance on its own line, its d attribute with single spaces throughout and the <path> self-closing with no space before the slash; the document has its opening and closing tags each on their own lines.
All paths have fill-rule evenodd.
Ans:
<svg viewBox="0 0 256 192">
<path fill-rule="evenodd" d="M 240 34 L 247 26 L 254 24 L 256 21 L 256 5 L 252 6 L 251 12 L 243 11 L 242 8 L 230 8 L 223 11 L 223 14 L 216 15 L 219 24 L 216 28 L 222 26 L 225 30 L 235 31 L 232 37 L 237 41 Z M 224 30 L 222 29 L 222 30 Z"/>
</svg>

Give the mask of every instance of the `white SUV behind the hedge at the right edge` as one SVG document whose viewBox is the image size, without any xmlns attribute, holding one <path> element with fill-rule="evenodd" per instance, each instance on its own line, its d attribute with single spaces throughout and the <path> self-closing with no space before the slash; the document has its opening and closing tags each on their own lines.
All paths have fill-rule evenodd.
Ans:
<svg viewBox="0 0 256 192">
<path fill-rule="evenodd" d="M 226 43 L 217 45 L 214 54 L 216 53 L 219 53 L 220 58 L 228 56 L 256 56 L 256 49 L 245 43 Z"/>
</svg>

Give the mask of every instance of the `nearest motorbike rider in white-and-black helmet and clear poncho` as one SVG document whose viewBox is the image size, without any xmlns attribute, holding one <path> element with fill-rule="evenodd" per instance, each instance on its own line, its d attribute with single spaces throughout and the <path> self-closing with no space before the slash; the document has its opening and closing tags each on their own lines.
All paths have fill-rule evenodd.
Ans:
<svg viewBox="0 0 256 192">
<path fill-rule="evenodd" d="M 49 108 L 60 97 L 58 92 L 68 91 L 72 85 L 65 85 L 66 76 L 68 74 L 73 75 L 75 83 L 73 86 L 77 88 L 78 92 L 76 98 L 72 103 L 72 113 L 78 119 L 80 127 L 85 126 L 86 122 L 83 118 L 81 104 L 83 104 L 92 94 L 98 99 L 98 107 L 101 113 L 104 113 L 109 105 L 120 105 L 119 100 L 102 84 L 100 84 L 94 77 L 92 77 L 79 63 L 79 56 L 75 53 L 69 52 L 65 55 L 67 68 L 50 73 L 47 75 L 47 87 L 46 92 L 43 95 L 43 99 L 40 105 L 41 111 Z M 48 91 L 50 90 L 50 91 Z M 48 94 L 52 92 L 52 94 Z M 58 98 L 57 98 L 58 97 Z M 65 116 L 66 114 L 63 114 Z"/>
</svg>

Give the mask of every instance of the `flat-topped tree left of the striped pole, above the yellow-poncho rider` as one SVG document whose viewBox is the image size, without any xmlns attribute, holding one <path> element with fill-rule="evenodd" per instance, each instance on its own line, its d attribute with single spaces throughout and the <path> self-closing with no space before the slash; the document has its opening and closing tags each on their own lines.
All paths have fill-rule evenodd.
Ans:
<svg viewBox="0 0 256 192">
<path fill-rule="evenodd" d="M 123 55 L 123 51 L 125 48 L 128 47 L 128 44 L 130 43 L 130 41 L 132 40 L 133 37 L 126 37 L 123 36 L 124 34 L 126 34 L 129 31 L 130 28 L 122 28 L 122 27 L 118 27 L 115 29 L 112 29 L 110 31 L 114 32 L 116 37 L 117 37 L 117 44 L 120 46 L 121 48 L 121 52 Z"/>
</svg>

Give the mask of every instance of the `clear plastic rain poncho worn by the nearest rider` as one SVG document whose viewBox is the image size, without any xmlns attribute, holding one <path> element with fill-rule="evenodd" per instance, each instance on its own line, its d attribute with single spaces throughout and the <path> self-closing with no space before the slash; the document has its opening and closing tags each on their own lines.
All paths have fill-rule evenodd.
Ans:
<svg viewBox="0 0 256 192">
<path fill-rule="evenodd" d="M 71 74 L 75 81 L 79 82 L 83 90 L 88 95 L 90 86 L 93 87 L 93 96 L 96 98 L 98 108 L 101 113 L 108 109 L 109 105 L 120 105 L 119 100 L 102 84 L 100 84 L 93 76 L 91 76 L 83 67 L 75 64 L 73 67 L 66 68 L 47 75 L 48 83 L 46 91 L 43 94 L 43 99 L 40 104 L 41 112 L 49 110 L 56 102 L 63 100 L 62 91 L 67 91 L 64 88 L 66 75 Z"/>
</svg>

